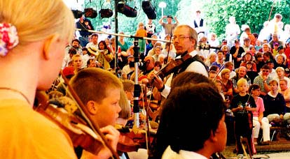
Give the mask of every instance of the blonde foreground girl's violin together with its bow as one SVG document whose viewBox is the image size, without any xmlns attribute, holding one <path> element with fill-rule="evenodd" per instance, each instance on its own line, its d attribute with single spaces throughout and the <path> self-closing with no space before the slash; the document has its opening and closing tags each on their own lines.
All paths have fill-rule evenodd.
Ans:
<svg viewBox="0 0 290 159">
<path fill-rule="evenodd" d="M 69 137 L 71 137 L 74 146 L 81 146 L 85 151 L 92 154 L 97 154 L 106 146 L 113 154 L 113 157 L 119 159 L 118 153 L 116 153 L 106 141 L 97 123 L 92 123 L 91 117 L 86 115 L 89 114 L 88 110 L 82 109 L 82 107 L 85 106 L 74 89 L 70 86 L 69 80 L 63 75 L 62 71 L 60 71 L 60 73 L 68 86 L 71 98 L 76 101 L 76 109 L 80 115 L 73 112 L 69 113 L 63 107 L 57 107 L 49 103 L 46 93 L 41 93 L 40 91 L 36 91 L 36 99 L 39 105 L 34 107 L 35 110 L 55 122 L 60 128 L 63 128 Z"/>
</svg>

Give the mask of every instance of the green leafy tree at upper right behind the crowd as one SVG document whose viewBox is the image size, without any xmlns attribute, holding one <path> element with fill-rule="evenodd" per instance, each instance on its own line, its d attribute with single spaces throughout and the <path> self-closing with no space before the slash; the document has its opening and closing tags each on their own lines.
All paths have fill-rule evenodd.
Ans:
<svg viewBox="0 0 290 159">
<path fill-rule="evenodd" d="M 205 19 L 212 32 L 220 38 L 224 38 L 225 27 L 228 18 L 234 16 L 237 24 L 247 24 L 251 33 L 259 33 L 265 21 L 270 20 L 276 13 L 283 16 L 282 22 L 289 24 L 289 0 L 213 0 L 206 3 L 203 10 L 206 10 Z M 272 8 L 272 11 L 271 11 Z"/>
</svg>

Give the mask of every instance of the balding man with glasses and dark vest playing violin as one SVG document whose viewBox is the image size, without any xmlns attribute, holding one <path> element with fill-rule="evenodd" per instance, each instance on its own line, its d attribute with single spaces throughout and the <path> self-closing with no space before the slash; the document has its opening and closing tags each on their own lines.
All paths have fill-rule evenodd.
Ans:
<svg viewBox="0 0 290 159">
<path fill-rule="evenodd" d="M 205 63 L 202 61 L 198 55 L 198 52 L 196 51 L 198 33 L 195 31 L 195 29 L 188 25 L 179 25 L 176 29 L 174 29 L 172 40 L 174 48 L 177 51 L 177 58 L 174 61 L 180 61 L 180 59 L 184 59 L 186 54 L 190 55 L 191 58 L 186 60 L 185 63 L 182 63 L 180 67 L 177 68 L 178 71 L 174 72 L 173 75 L 167 79 L 165 84 L 163 84 L 163 80 L 157 77 L 157 75 L 151 75 L 151 77 L 155 77 L 153 85 L 156 86 L 158 91 L 160 91 L 161 95 L 165 98 L 170 93 L 170 83 L 172 78 L 181 72 L 192 71 L 208 77 L 207 66 L 205 66 Z M 170 66 L 170 63 L 167 66 Z"/>
</svg>

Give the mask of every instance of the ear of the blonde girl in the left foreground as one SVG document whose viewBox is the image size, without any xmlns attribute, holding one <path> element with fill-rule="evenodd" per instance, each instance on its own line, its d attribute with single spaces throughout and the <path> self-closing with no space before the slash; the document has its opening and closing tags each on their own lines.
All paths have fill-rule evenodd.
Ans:
<svg viewBox="0 0 290 159">
<path fill-rule="evenodd" d="M 44 59 L 48 60 L 51 56 L 54 56 L 51 50 L 56 49 L 55 44 L 60 41 L 60 36 L 58 34 L 53 34 L 53 36 L 50 36 L 46 38 L 43 45 L 43 57 Z"/>
</svg>

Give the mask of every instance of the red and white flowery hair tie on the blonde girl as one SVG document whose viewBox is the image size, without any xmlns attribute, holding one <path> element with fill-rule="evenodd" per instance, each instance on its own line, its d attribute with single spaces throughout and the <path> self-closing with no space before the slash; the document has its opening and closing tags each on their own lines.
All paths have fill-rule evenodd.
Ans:
<svg viewBox="0 0 290 159">
<path fill-rule="evenodd" d="M 16 27 L 9 23 L 0 23 L 0 56 L 6 56 L 8 50 L 13 49 L 18 43 Z"/>
</svg>

